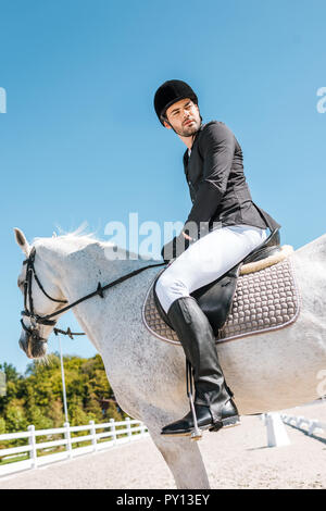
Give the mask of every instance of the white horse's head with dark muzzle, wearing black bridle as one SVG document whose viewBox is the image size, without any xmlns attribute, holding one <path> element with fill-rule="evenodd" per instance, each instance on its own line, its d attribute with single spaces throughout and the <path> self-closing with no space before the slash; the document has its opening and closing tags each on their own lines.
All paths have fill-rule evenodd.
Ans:
<svg viewBox="0 0 326 511">
<path fill-rule="evenodd" d="M 47 341 L 59 317 L 48 316 L 62 308 L 66 300 L 58 285 L 53 265 L 45 257 L 46 247 L 42 244 L 30 246 L 21 229 L 15 228 L 14 232 L 26 257 L 17 281 L 24 296 L 20 346 L 29 359 L 39 359 L 47 353 Z"/>
</svg>

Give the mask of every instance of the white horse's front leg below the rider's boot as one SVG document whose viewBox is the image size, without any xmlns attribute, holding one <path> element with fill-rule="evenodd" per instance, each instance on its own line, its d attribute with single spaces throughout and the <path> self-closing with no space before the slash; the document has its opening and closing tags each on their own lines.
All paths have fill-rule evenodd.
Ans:
<svg viewBox="0 0 326 511">
<path fill-rule="evenodd" d="M 166 438 L 156 427 L 148 431 L 171 470 L 179 489 L 210 489 L 201 452 L 196 440 L 189 437 Z"/>
</svg>

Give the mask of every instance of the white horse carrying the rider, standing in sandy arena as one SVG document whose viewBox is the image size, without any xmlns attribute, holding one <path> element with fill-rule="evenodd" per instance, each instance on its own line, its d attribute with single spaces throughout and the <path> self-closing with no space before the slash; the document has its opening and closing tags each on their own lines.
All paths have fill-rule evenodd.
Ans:
<svg viewBox="0 0 326 511">
<path fill-rule="evenodd" d="M 22 230 L 15 229 L 15 238 L 26 257 L 36 248 L 35 270 L 47 294 L 68 303 L 93 291 L 98 282 L 110 283 L 149 264 L 137 256 L 134 260 L 112 260 L 111 245 L 91 236 L 36 238 L 29 245 Z M 217 347 L 241 415 L 292 408 L 319 397 L 318 378 L 326 369 L 326 234 L 289 257 L 301 294 L 301 310 L 294 323 Z M 181 347 L 151 335 L 141 320 L 142 303 L 158 271 L 146 270 L 106 290 L 104 298 L 90 298 L 73 311 L 103 359 L 120 407 L 147 425 L 177 487 L 209 488 L 198 443 L 189 437 L 160 435 L 162 426 L 189 411 L 189 402 Z M 18 276 L 20 286 L 25 272 L 26 264 Z M 32 284 L 35 313 L 42 316 L 63 307 L 43 295 L 35 277 Z M 24 323 L 33 327 L 28 316 Z M 38 328 L 39 335 L 48 339 L 53 326 Z M 45 356 L 46 342 L 33 339 L 25 329 L 20 342 L 30 358 Z"/>
</svg>

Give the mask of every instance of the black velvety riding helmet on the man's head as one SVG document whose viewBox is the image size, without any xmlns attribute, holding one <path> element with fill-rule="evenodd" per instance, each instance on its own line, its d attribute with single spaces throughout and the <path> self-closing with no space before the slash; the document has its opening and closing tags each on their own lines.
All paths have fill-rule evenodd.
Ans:
<svg viewBox="0 0 326 511">
<path fill-rule="evenodd" d="M 189 98 L 195 104 L 198 104 L 198 98 L 191 87 L 180 79 L 170 79 L 158 88 L 154 96 L 154 109 L 163 126 L 163 117 L 168 107 L 185 98 Z"/>
</svg>

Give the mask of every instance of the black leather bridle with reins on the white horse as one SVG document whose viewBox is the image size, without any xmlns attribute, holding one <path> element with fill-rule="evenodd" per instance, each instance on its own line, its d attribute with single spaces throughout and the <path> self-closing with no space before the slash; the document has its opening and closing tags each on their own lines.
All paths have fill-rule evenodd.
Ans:
<svg viewBox="0 0 326 511">
<path fill-rule="evenodd" d="M 63 307 L 62 309 L 59 309 L 58 311 L 52 312 L 51 314 L 47 315 L 39 315 L 35 313 L 34 310 L 34 302 L 33 302 L 33 295 L 32 295 L 32 283 L 33 283 L 33 276 L 40 288 L 40 290 L 43 292 L 43 295 L 49 298 L 52 301 L 59 302 L 59 303 L 67 303 L 67 300 L 59 300 L 57 298 L 51 297 L 50 295 L 47 294 L 43 286 L 41 285 L 36 271 L 35 271 L 35 256 L 36 256 L 36 248 L 33 247 L 29 256 L 27 259 L 23 261 L 23 264 L 26 264 L 26 275 L 25 275 L 25 281 L 24 281 L 24 310 L 22 311 L 21 315 L 27 316 L 30 320 L 30 323 L 33 327 L 28 327 L 25 325 L 23 319 L 21 320 L 21 324 L 23 326 L 23 329 L 27 332 L 33 340 L 35 341 L 41 341 L 41 342 L 47 342 L 48 339 L 45 339 L 43 337 L 40 336 L 39 331 L 37 328 L 37 325 L 48 325 L 48 326 L 54 326 L 58 322 L 58 320 L 52 320 L 52 317 L 55 317 L 58 314 L 61 314 L 63 312 L 66 312 L 67 310 L 72 309 L 73 307 L 77 306 L 82 301 L 88 300 L 89 298 L 92 298 L 95 296 L 99 296 L 101 298 L 104 298 L 103 291 L 109 289 L 110 287 L 115 286 L 116 284 L 120 284 L 124 281 L 127 281 L 128 278 L 138 275 L 139 273 L 143 272 L 145 270 L 148 270 L 150 267 L 155 267 L 155 266 L 162 266 L 163 264 L 166 264 L 165 262 L 163 263 L 158 263 L 158 264 L 149 264 L 147 266 L 140 267 L 138 270 L 135 270 L 134 272 L 130 272 L 126 275 L 123 275 L 120 278 L 116 278 L 115 281 L 106 284 L 105 286 L 102 286 L 101 283 L 98 283 L 98 287 L 95 291 L 90 292 L 89 295 L 85 295 L 84 297 L 79 298 L 78 300 L 74 301 L 73 303 L 70 303 L 66 307 Z M 27 308 L 27 301 L 28 301 L 28 308 Z M 53 328 L 53 332 L 55 335 L 63 334 L 63 335 L 68 335 L 71 338 L 73 338 L 74 335 L 85 335 L 84 333 L 73 333 L 70 328 L 67 328 L 66 332 L 61 331 L 60 328 Z"/>
</svg>

